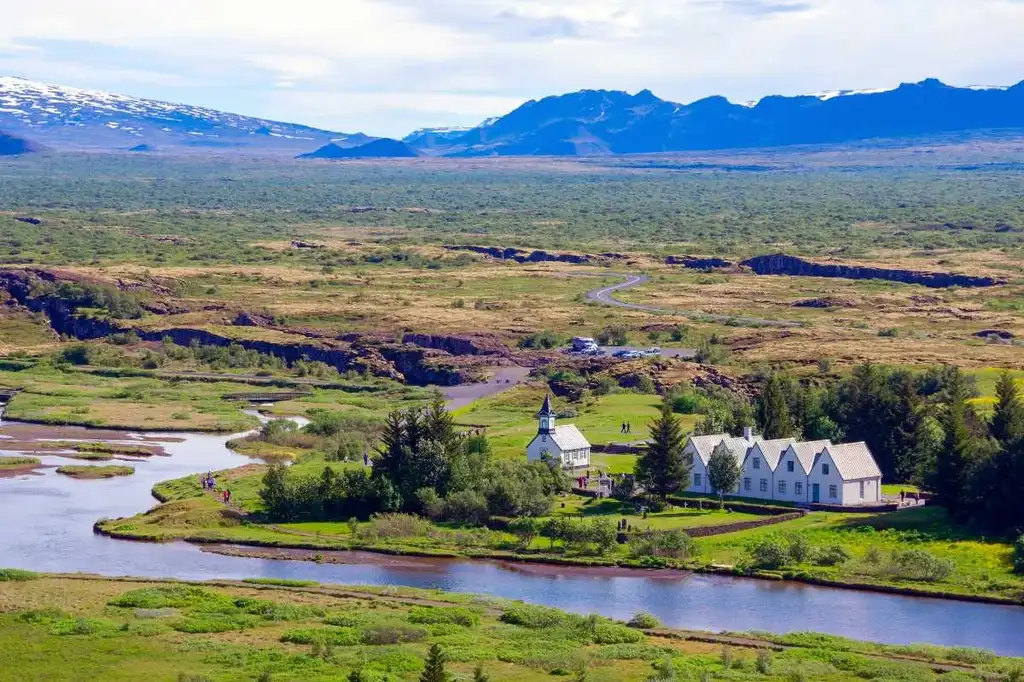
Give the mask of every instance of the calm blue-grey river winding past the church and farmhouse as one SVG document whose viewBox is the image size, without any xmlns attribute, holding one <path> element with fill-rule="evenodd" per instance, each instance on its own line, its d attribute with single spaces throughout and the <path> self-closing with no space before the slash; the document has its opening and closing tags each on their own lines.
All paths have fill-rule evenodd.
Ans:
<svg viewBox="0 0 1024 682">
<path fill-rule="evenodd" d="M 0 425 L 0 449 L 17 438 L 73 439 L 79 428 Z M 109 436 L 108 436 L 109 437 Z M 628 619 L 650 611 L 669 626 L 709 631 L 816 631 L 894 644 L 974 646 L 1024 655 L 1024 608 L 665 571 L 600 571 L 492 561 L 394 560 L 362 553 L 351 564 L 224 556 L 184 544 L 112 540 L 92 532 L 100 517 L 155 504 L 154 483 L 241 466 L 230 436 L 166 434 L 170 457 L 135 463 L 133 476 L 76 480 L 43 469 L 0 478 L 0 566 L 182 580 L 285 578 L 334 584 L 401 585 L 472 592 Z M 127 441 L 165 436 L 123 434 Z M 5 453 L 11 454 L 11 453 Z M 67 463 L 43 457 L 46 464 Z"/>
</svg>

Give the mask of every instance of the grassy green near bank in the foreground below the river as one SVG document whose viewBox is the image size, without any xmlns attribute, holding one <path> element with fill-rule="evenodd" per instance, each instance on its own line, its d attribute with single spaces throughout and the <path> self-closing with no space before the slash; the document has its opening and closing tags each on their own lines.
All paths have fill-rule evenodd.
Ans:
<svg viewBox="0 0 1024 682">
<path fill-rule="evenodd" d="M 0 570 L 0 679 L 420 679 L 430 648 L 473 679 L 1015 679 L 1024 660 L 812 633 L 713 635 L 489 597 L 288 581 L 164 583 Z M 354 673 L 354 675 L 353 675 Z"/>
</svg>

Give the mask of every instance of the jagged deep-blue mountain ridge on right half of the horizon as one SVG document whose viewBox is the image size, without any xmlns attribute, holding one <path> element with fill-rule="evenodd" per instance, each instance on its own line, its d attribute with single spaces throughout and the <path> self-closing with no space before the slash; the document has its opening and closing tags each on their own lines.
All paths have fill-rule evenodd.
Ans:
<svg viewBox="0 0 1024 682">
<path fill-rule="evenodd" d="M 827 144 L 1020 129 L 1024 82 L 956 88 L 930 79 L 887 91 L 679 104 L 649 90 L 583 90 L 530 100 L 465 133 L 434 138 L 446 156 L 587 156 Z M 428 138 L 427 138 L 428 139 Z M 422 143 L 421 143 L 422 144 Z"/>
</svg>

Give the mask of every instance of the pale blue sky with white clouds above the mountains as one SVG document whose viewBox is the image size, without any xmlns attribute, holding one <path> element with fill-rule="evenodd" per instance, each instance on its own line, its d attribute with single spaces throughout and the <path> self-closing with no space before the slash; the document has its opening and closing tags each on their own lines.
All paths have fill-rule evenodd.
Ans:
<svg viewBox="0 0 1024 682">
<path fill-rule="evenodd" d="M 341 132 L 583 88 L 674 101 L 1024 80 L 1024 0 L 12 0 L 0 75 Z"/>
</svg>

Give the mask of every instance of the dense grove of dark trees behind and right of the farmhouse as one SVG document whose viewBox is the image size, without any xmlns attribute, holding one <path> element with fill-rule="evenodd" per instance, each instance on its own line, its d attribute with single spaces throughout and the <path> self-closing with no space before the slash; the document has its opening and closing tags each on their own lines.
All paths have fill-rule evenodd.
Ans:
<svg viewBox="0 0 1024 682">
<path fill-rule="evenodd" d="M 757 400 L 766 438 L 867 443 L 883 478 L 924 485 L 954 518 L 1024 528 L 1024 401 L 1009 373 L 983 419 L 958 369 L 924 373 L 872 365 L 825 387 L 769 377 Z"/>
</svg>

